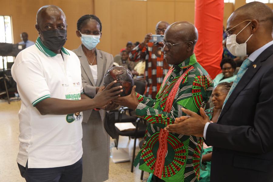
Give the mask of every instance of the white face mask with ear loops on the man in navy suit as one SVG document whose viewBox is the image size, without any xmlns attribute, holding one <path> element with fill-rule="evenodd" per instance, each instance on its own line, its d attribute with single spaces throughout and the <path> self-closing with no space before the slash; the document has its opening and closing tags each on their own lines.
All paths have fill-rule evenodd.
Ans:
<svg viewBox="0 0 273 182">
<path fill-rule="evenodd" d="M 246 20 L 246 21 L 251 21 L 251 20 Z M 241 23 L 243 23 L 243 22 L 241 22 Z M 238 25 L 240 25 L 241 23 L 239 23 Z M 249 22 L 240 32 L 242 32 L 250 23 L 251 22 Z M 238 25 L 236 25 L 236 26 L 238 26 Z M 236 26 L 234 26 L 234 27 L 236 27 Z M 231 29 L 233 29 L 233 28 L 231 28 Z M 229 29 L 229 30 L 231 30 L 231 29 Z M 227 49 L 233 56 L 246 56 L 247 55 L 247 52 L 246 52 L 247 44 L 246 44 L 246 42 L 248 42 L 248 40 L 251 38 L 251 36 L 253 34 L 251 34 L 243 44 L 238 44 L 236 42 L 236 36 L 237 35 L 233 34 L 233 35 L 230 35 L 230 36 L 227 37 Z"/>
</svg>

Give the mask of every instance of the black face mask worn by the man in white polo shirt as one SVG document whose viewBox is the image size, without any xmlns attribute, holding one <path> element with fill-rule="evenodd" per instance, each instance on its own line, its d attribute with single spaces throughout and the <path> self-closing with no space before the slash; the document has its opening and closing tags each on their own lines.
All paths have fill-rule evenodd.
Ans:
<svg viewBox="0 0 273 182">
<path fill-rule="evenodd" d="M 43 44 L 50 50 L 57 51 L 66 43 L 66 30 L 47 30 L 42 32 Z"/>
</svg>

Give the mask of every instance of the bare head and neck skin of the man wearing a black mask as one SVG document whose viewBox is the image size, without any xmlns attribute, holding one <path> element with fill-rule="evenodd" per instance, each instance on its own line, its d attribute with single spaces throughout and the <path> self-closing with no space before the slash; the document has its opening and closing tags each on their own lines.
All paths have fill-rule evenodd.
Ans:
<svg viewBox="0 0 273 182">
<path fill-rule="evenodd" d="M 43 31 L 67 29 L 66 16 L 56 6 L 52 5 L 47 8 L 43 8 L 37 14 L 39 14 L 39 16 L 37 16 L 37 24 L 35 25 L 35 28 L 38 31 L 42 42 L 44 41 L 44 37 L 42 34 Z M 61 49 L 51 51 L 56 54 L 61 53 Z"/>
</svg>

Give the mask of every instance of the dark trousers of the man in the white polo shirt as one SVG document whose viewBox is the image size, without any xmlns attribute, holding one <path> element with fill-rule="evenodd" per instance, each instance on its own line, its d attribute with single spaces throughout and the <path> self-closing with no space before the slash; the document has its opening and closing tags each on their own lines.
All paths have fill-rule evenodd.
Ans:
<svg viewBox="0 0 273 182">
<path fill-rule="evenodd" d="M 18 164 L 18 163 L 17 163 Z M 81 182 L 83 176 L 83 159 L 76 163 L 52 168 L 28 168 L 18 164 L 21 176 L 26 182 Z"/>
</svg>

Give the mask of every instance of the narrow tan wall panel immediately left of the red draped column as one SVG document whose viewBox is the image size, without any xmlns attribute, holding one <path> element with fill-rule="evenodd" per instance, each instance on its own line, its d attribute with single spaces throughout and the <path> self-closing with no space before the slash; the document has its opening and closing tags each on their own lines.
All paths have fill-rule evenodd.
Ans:
<svg viewBox="0 0 273 182">
<path fill-rule="evenodd" d="M 175 22 L 188 21 L 194 24 L 194 1 L 175 2 Z"/>
</svg>

